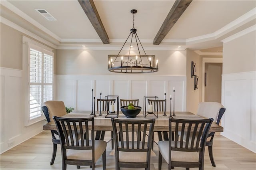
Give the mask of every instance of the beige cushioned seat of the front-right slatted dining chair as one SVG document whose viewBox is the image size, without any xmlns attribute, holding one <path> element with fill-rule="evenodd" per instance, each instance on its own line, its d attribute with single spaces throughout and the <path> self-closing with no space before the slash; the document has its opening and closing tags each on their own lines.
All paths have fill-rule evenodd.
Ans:
<svg viewBox="0 0 256 170">
<path fill-rule="evenodd" d="M 183 142 L 185 146 L 185 142 Z M 172 146 L 174 146 L 174 141 L 172 141 Z M 178 144 L 179 146 L 179 144 Z M 161 152 L 164 160 L 168 162 L 169 160 L 169 141 L 159 141 L 158 142 L 158 148 Z M 172 161 L 184 161 L 187 162 L 198 162 L 199 153 L 198 152 L 180 152 L 180 151 L 174 151 L 172 150 Z"/>
</svg>

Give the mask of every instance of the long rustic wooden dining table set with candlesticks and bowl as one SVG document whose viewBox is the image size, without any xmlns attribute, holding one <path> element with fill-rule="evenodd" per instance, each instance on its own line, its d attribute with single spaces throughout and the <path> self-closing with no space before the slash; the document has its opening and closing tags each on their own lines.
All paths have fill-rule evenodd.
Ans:
<svg viewBox="0 0 256 170">
<path fill-rule="evenodd" d="M 62 117 L 64 118 L 85 118 L 85 117 L 92 117 L 92 111 L 72 111 Z M 94 116 L 94 130 L 96 131 L 95 139 L 104 140 L 104 135 L 106 131 L 113 131 L 111 118 L 117 119 L 127 119 L 127 120 L 141 120 L 141 119 L 152 119 L 155 118 L 155 125 L 154 125 L 154 132 L 158 132 L 159 140 L 168 140 L 168 132 L 169 132 L 169 117 L 170 112 L 166 111 L 167 116 L 163 116 L 164 112 L 158 112 L 155 115 L 147 115 L 140 112 L 135 118 L 127 118 L 121 111 L 118 112 L 116 115 L 108 115 L 104 113 L 100 113 L 100 111 L 95 111 Z M 100 116 L 101 115 L 101 116 Z M 105 116 L 106 115 L 106 116 Z M 172 112 L 173 115 L 173 112 Z M 200 117 L 188 111 L 177 111 L 175 112 L 175 119 L 205 119 L 204 117 Z M 174 126 L 172 130 L 174 131 Z M 179 127 L 181 129 L 181 127 Z M 56 125 L 54 122 L 49 122 L 43 126 L 44 130 L 57 130 Z M 216 123 L 212 123 L 210 127 L 211 132 L 223 132 L 223 127 L 217 125 Z M 162 136 L 163 135 L 163 136 Z"/>
</svg>

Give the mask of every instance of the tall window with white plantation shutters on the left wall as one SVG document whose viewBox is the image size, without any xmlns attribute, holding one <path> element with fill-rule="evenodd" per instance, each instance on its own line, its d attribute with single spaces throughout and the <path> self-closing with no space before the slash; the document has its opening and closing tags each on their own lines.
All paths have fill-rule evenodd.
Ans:
<svg viewBox="0 0 256 170">
<path fill-rule="evenodd" d="M 26 39 L 26 38 L 24 38 Z M 26 42 L 25 49 L 27 49 L 27 55 L 24 56 L 24 65 L 27 73 L 26 84 L 28 85 L 27 97 L 28 105 L 25 109 L 27 113 L 26 125 L 31 125 L 35 122 L 44 119 L 44 115 L 41 110 L 42 103 L 44 101 L 53 100 L 53 56 L 47 47 L 36 43 L 32 40 Z"/>
</svg>

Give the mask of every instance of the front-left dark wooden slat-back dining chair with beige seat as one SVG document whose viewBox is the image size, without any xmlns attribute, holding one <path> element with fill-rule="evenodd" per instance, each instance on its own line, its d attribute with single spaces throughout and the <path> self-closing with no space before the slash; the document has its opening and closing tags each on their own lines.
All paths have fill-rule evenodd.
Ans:
<svg viewBox="0 0 256 170">
<path fill-rule="evenodd" d="M 94 117 L 63 118 L 54 116 L 53 119 L 60 136 L 62 170 L 66 170 L 67 164 L 76 165 L 77 168 L 89 165 L 94 170 L 95 163 L 101 156 L 103 170 L 106 170 L 107 142 L 94 139 Z M 89 125 L 91 125 L 90 130 Z"/>
</svg>

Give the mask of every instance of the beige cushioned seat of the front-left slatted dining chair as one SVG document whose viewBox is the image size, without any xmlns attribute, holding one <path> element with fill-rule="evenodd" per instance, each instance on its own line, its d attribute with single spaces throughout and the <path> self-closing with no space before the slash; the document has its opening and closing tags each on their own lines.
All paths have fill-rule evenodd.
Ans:
<svg viewBox="0 0 256 170">
<path fill-rule="evenodd" d="M 79 140 L 81 144 L 81 140 Z M 86 144 L 86 140 L 84 140 Z M 89 140 L 89 145 L 92 145 L 92 140 Z M 107 142 L 104 140 L 94 140 L 94 155 L 95 162 L 100 158 L 104 150 L 106 150 Z M 79 160 L 92 160 L 92 150 L 70 150 L 67 149 L 67 159 L 79 159 Z"/>
</svg>

